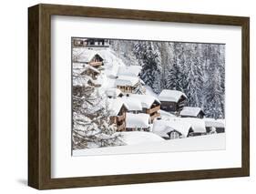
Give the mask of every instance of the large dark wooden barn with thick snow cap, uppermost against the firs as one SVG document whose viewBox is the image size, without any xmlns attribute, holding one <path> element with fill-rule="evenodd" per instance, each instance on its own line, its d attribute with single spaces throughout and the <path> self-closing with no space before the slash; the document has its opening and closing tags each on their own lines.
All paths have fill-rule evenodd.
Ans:
<svg viewBox="0 0 256 194">
<path fill-rule="evenodd" d="M 187 96 L 178 90 L 164 89 L 159 94 L 161 109 L 168 112 L 180 112 L 185 106 Z"/>
</svg>

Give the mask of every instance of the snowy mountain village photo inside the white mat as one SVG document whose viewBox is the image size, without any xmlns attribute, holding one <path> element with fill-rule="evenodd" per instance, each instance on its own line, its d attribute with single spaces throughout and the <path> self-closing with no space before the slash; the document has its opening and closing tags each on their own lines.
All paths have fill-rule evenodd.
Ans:
<svg viewBox="0 0 256 194">
<path fill-rule="evenodd" d="M 72 38 L 73 156 L 224 149 L 224 48 Z"/>
</svg>

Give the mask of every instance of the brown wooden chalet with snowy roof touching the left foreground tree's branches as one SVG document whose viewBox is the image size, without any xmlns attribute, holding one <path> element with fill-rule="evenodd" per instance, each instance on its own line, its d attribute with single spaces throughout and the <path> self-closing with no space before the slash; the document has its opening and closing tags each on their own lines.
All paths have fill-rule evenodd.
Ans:
<svg viewBox="0 0 256 194">
<path fill-rule="evenodd" d="M 117 125 L 117 131 L 126 130 L 126 114 L 128 107 L 120 99 L 108 99 L 110 109 L 110 121 Z"/>
</svg>

